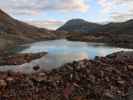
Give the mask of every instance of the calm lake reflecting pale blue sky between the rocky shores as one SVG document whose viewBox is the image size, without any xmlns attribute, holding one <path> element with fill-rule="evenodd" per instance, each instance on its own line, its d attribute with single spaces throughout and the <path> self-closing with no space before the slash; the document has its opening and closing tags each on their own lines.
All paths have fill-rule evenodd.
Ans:
<svg viewBox="0 0 133 100">
<path fill-rule="evenodd" d="M 0 67 L 0 70 L 21 71 L 27 73 L 33 72 L 32 67 L 35 65 L 39 65 L 41 67 L 40 70 L 50 70 L 72 61 L 93 59 L 95 56 L 106 56 L 117 51 L 132 50 L 111 47 L 104 43 L 72 42 L 65 39 L 26 44 L 26 47 L 26 49 L 18 51 L 18 53 L 48 52 L 48 54 L 40 59 L 23 65 L 10 67 L 4 66 L 4 68 Z"/>
</svg>

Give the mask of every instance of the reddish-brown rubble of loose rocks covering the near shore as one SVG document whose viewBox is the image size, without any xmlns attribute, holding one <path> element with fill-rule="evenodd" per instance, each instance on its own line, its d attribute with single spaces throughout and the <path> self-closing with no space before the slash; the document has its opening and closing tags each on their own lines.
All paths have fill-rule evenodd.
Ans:
<svg viewBox="0 0 133 100">
<path fill-rule="evenodd" d="M 133 52 L 36 74 L 0 72 L 0 100 L 133 100 Z"/>
</svg>

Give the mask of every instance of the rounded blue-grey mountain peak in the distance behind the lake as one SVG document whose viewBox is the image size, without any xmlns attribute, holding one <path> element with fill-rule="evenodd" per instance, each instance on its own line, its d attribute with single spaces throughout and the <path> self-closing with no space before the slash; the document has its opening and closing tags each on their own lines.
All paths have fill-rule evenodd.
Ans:
<svg viewBox="0 0 133 100">
<path fill-rule="evenodd" d="M 100 25 L 96 23 L 89 23 L 83 19 L 72 19 L 66 22 L 57 30 L 77 33 L 88 33 L 94 32 L 97 27 L 100 27 Z"/>
</svg>

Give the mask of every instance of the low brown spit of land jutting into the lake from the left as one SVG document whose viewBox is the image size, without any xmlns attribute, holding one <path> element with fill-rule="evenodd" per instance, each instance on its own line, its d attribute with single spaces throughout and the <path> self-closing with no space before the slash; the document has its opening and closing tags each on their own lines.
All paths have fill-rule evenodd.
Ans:
<svg viewBox="0 0 133 100">
<path fill-rule="evenodd" d="M 1 56 L 0 66 L 3 65 L 21 65 L 28 63 L 32 60 L 39 59 L 46 55 L 46 52 L 41 53 L 23 53 L 23 54 L 7 54 L 6 56 Z"/>
</svg>

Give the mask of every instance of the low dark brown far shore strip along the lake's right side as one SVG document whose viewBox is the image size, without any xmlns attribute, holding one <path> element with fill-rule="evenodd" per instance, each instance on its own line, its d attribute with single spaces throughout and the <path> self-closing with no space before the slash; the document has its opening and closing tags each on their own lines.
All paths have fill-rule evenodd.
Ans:
<svg viewBox="0 0 133 100">
<path fill-rule="evenodd" d="M 117 37 L 117 36 L 116 36 Z M 100 42 L 110 46 L 116 46 L 121 48 L 133 48 L 133 41 L 128 38 L 117 39 L 114 37 L 103 37 L 103 36 L 70 36 L 66 37 L 70 41 L 83 41 L 83 42 Z"/>
</svg>

